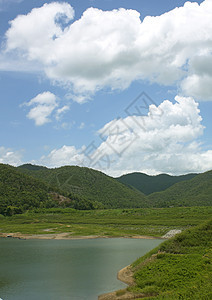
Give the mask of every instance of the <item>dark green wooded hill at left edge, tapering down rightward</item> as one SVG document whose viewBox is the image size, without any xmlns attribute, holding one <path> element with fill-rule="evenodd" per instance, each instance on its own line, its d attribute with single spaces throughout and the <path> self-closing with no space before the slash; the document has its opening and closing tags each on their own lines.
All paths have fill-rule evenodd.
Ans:
<svg viewBox="0 0 212 300">
<path fill-rule="evenodd" d="M 17 168 L 0 164 L 0 214 L 11 216 L 33 208 L 72 207 L 76 209 L 102 208 L 101 203 L 76 195 L 68 195 Z"/>
</svg>

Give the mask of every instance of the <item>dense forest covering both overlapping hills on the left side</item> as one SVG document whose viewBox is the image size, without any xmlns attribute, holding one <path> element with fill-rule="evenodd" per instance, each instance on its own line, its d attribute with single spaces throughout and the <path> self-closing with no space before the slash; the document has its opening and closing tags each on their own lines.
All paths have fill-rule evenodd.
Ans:
<svg viewBox="0 0 212 300">
<path fill-rule="evenodd" d="M 32 175 L 32 176 L 31 176 Z M 0 214 L 32 208 L 71 207 L 79 210 L 145 207 L 142 193 L 88 168 L 47 169 L 0 164 Z"/>
</svg>

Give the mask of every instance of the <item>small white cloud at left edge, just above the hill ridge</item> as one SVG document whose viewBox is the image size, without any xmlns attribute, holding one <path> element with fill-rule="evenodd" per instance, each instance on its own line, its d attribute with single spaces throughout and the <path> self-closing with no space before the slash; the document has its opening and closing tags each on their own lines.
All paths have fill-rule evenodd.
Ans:
<svg viewBox="0 0 212 300">
<path fill-rule="evenodd" d="M 0 146 L 0 163 L 18 166 L 22 164 L 22 151 Z"/>
</svg>

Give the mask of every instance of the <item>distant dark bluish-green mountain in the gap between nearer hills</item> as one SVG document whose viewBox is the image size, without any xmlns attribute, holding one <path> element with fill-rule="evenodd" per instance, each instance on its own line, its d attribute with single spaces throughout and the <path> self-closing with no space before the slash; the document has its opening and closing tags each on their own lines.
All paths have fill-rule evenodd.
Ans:
<svg viewBox="0 0 212 300">
<path fill-rule="evenodd" d="M 167 174 L 160 174 L 156 176 L 149 176 L 144 173 L 130 173 L 122 175 L 116 179 L 127 186 L 133 186 L 145 195 L 149 195 L 154 192 L 164 191 L 173 184 L 192 179 L 196 175 L 197 174 L 170 176 Z"/>
</svg>

